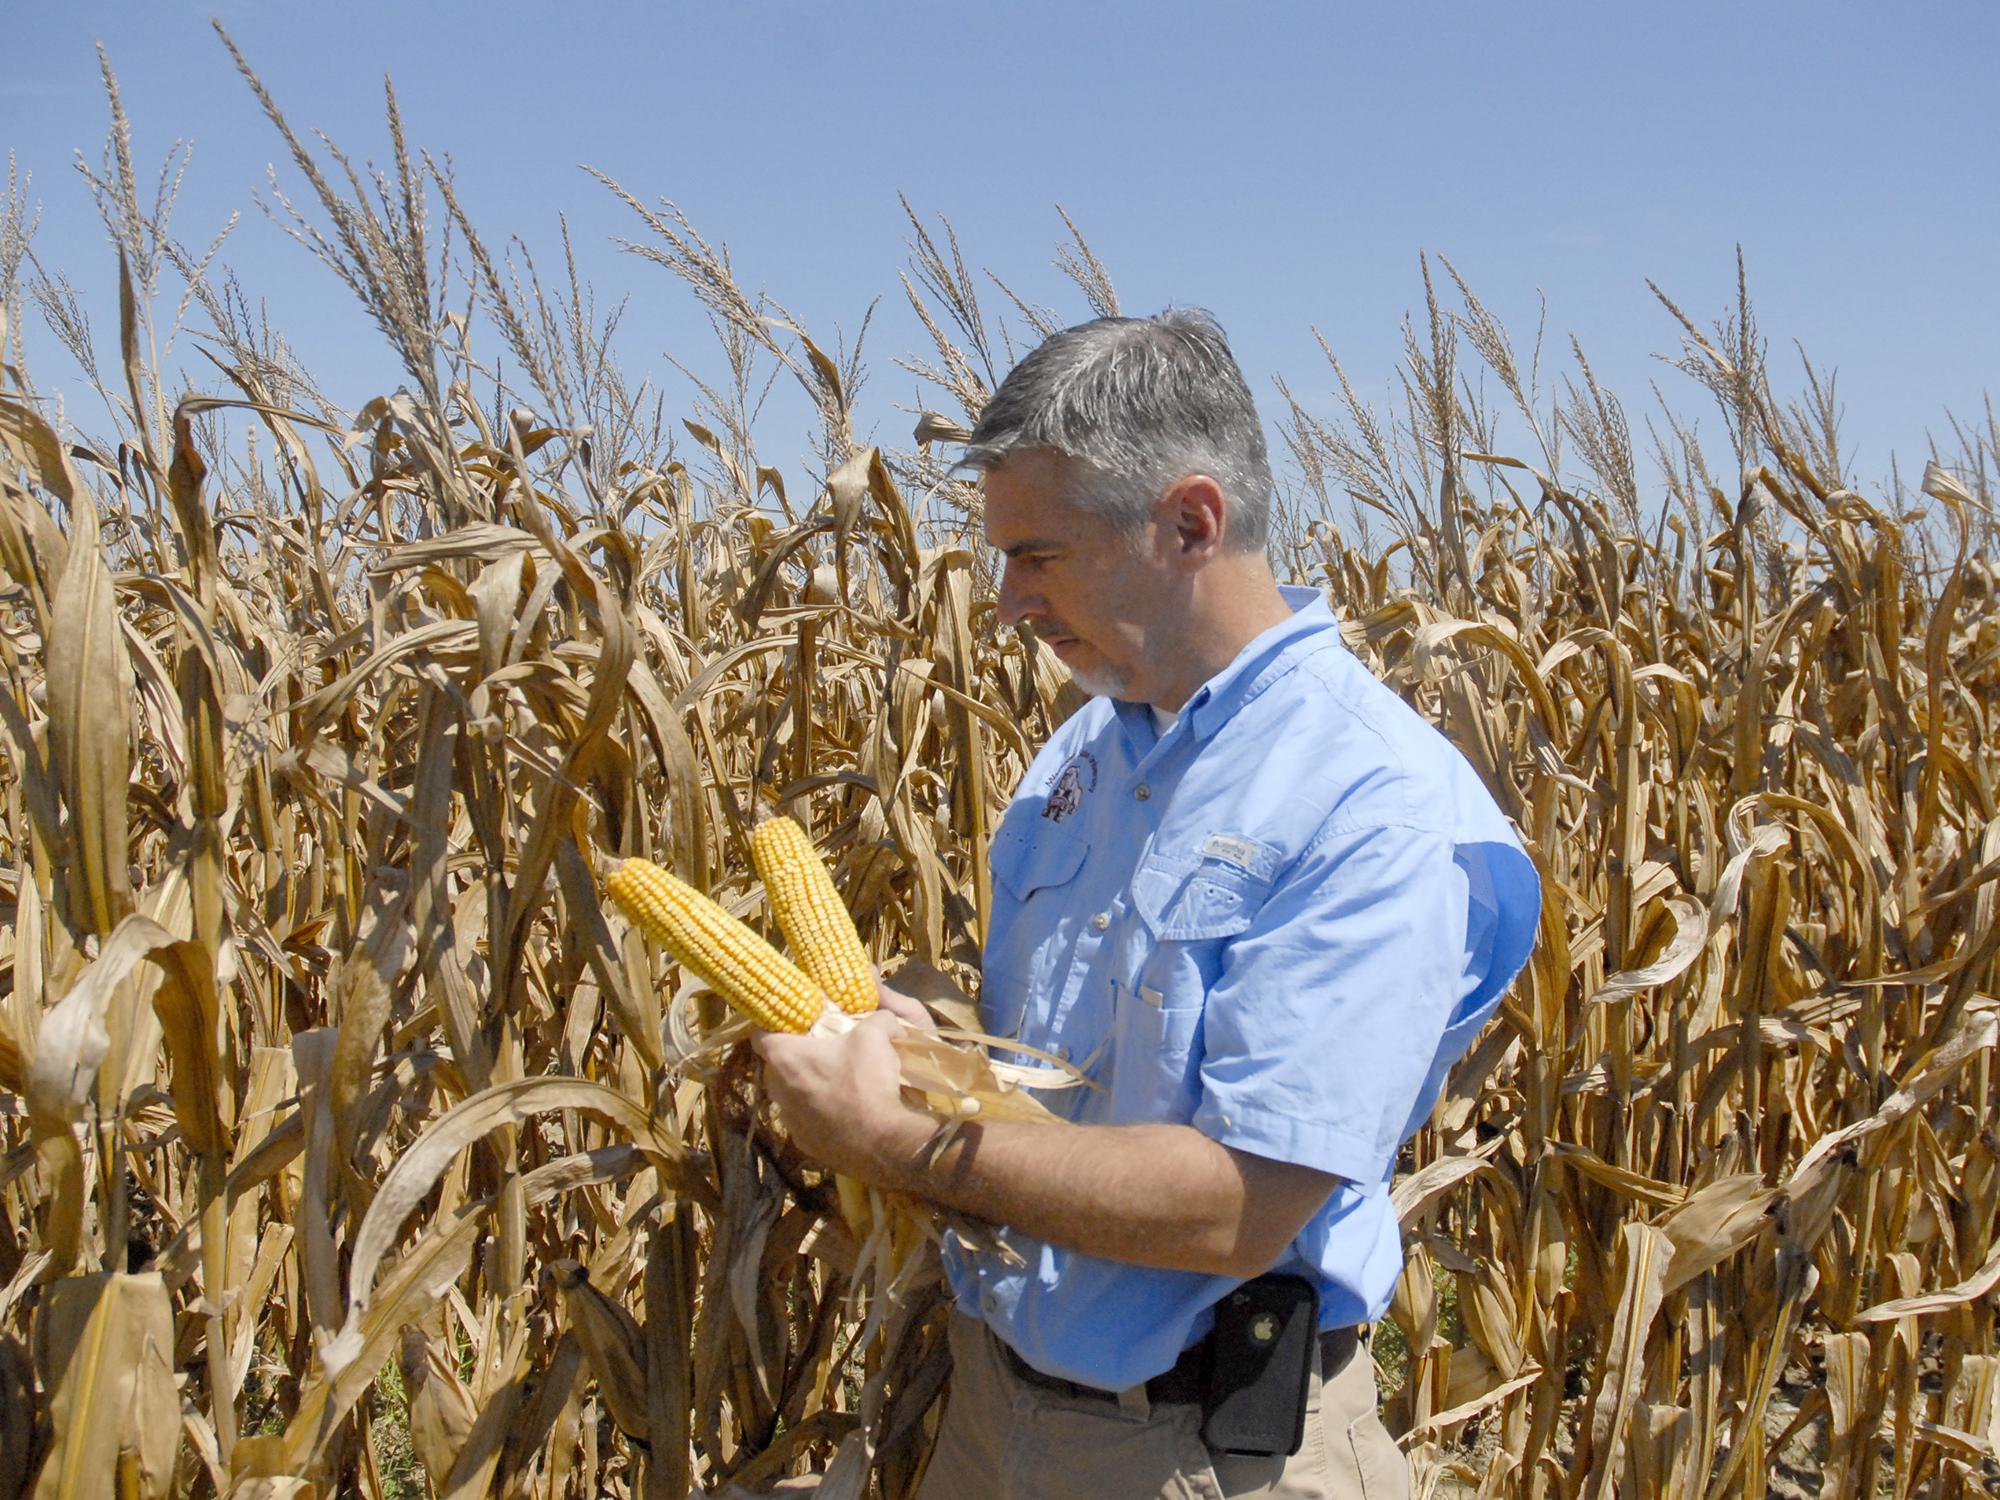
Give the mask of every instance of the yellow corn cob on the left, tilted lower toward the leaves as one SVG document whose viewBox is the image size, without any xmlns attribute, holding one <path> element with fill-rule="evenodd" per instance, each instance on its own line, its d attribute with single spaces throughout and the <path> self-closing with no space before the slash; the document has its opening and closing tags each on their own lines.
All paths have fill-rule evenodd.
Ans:
<svg viewBox="0 0 2000 1500">
<path fill-rule="evenodd" d="M 626 860 L 604 882 L 640 930 L 766 1032 L 804 1032 L 826 996 L 734 916 L 652 860 Z"/>
</svg>

